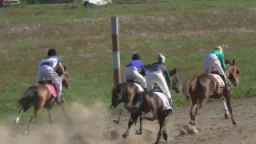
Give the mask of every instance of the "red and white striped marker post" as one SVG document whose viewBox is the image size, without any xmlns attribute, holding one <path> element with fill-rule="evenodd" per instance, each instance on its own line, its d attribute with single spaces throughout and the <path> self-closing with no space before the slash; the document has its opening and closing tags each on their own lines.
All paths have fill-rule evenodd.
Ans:
<svg viewBox="0 0 256 144">
<path fill-rule="evenodd" d="M 112 28 L 113 64 L 114 64 L 114 86 L 117 86 L 119 83 L 121 83 L 118 17 L 111 17 L 111 28 Z"/>
</svg>

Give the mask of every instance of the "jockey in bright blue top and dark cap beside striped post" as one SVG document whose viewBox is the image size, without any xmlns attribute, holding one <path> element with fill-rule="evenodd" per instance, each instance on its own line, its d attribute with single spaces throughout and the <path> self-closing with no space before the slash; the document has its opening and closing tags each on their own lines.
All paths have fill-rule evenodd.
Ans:
<svg viewBox="0 0 256 144">
<path fill-rule="evenodd" d="M 125 81 L 128 78 L 134 78 L 135 80 L 138 80 L 138 82 L 142 83 L 142 88 L 146 90 L 146 80 L 142 76 L 142 74 L 138 73 L 138 68 L 142 68 L 142 73 L 147 74 L 145 66 L 142 62 L 142 58 L 139 54 L 133 54 L 132 60 L 129 62 L 129 64 L 126 66 L 125 70 Z"/>
</svg>

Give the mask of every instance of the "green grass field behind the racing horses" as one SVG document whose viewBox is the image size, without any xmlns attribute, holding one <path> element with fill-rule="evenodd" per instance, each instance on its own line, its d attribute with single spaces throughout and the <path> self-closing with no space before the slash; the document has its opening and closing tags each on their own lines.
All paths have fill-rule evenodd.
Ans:
<svg viewBox="0 0 256 144">
<path fill-rule="evenodd" d="M 122 73 L 134 52 L 146 64 L 161 52 L 166 66 L 177 68 L 182 84 L 202 72 L 205 54 L 222 46 L 226 58 L 235 58 L 241 70 L 232 97 L 255 95 L 256 1 L 179 0 L 77 10 L 64 5 L 10 6 L 0 9 L 0 122 L 14 120 L 18 98 L 35 83 L 38 62 L 49 48 L 58 50 L 70 72 L 72 88 L 64 89 L 67 103 L 91 106 L 100 100 L 109 106 L 114 86 L 111 16 L 119 20 Z M 172 95 L 176 106 L 187 104 L 183 94 Z M 22 122 L 31 114 L 32 109 Z"/>
</svg>

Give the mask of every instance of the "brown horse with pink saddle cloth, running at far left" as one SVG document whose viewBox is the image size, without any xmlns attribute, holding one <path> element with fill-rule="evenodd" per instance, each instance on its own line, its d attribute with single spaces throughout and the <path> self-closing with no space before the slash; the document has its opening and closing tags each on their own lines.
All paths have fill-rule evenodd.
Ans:
<svg viewBox="0 0 256 144">
<path fill-rule="evenodd" d="M 62 86 L 65 86 L 67 89 L 70 86 L 70 80 L 68 77 L 68 72 L 66 71 L 66 66 L 64 66 L 66 74 L 62 74 L 61 70 L 56 70 L 56 73 L 60 78 L 62 79 Z M 19 118 L 22 115 L 22 112 L 26 112 L 31 106 L 34 106 L 34 114 L 30 118 L 29 126 L 27 127 L 25 134 L 28 133 L 30 129 L 30 125 L 36 118 L 38 118 L 38 114 L 41 112 L 42 108 L 47 108 L 48 110 L 48 116 L 50 122 L 52 122 L 51 119 L 51 109 L 56 104 L 54 96 L 51 94 L 48 87 L 45 85 L 46 83 L 50 84 L 50 81 L 42 81 L 39 82 L 39 84 L 35 86 L 30 86 L 22 98 L 18 100 L 19 105 L 22 106 L 21 110 L 19 111 L 18 117 L 16 118 L 16 123 L 18 123 Z M 66 109 L 64 107 L 64 98 L 62 93 L 62 102 L 60 102 L 59 106 L 61 106 L 63 113 L 66 115 L 66 118 L 69 118 L 69 116 L 66 113 Z"/>
</svg>

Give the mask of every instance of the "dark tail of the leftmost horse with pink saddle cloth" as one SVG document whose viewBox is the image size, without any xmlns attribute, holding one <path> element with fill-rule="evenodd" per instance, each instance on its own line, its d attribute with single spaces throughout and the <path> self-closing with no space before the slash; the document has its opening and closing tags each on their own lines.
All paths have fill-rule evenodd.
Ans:
<svg viewBox="0 0 256 144">
<path fill-rule="evenodd" d="M 23 94 L 22 98 L 18 100 L 19 106 L 22 106 L 23 111 L 26 112 L 34 104 L 34 97 L 37 95 L 38 86 L 30 86 Z"/>
</svg>

